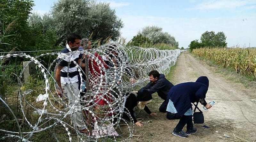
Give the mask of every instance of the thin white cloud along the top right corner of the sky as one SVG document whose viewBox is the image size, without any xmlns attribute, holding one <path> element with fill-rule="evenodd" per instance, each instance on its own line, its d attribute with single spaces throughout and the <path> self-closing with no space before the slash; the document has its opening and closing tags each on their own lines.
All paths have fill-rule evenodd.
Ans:
<svg viewBox="0 0 256 142">
<path fill-rule="evenodd" d="M 255 0 L 210 0 L 196 5 L 190 10 L 238 10 L 255 8 Z"/>
</svg>

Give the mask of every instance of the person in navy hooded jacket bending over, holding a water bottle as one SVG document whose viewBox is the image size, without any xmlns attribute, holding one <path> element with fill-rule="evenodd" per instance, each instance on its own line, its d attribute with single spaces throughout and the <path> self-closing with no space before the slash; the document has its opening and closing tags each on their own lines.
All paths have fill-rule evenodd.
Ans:
<svg viewBox="0 0 256 142">
<path fill-rule="evenodd" d="M 196 128 L 192 122 L 192 105 L 191 103 L 200 102 L 207 109 L 212 106 L 205 101 L 208 91 L 209 80 L 205 76 L 197 78 L 196 82 L 186 82 L 173 86 L 168 95 L 169 99 L 166 111 L 180 117 L 179 123 L 172 131 L 173 135 L 186 138 L 191 133 L 196 133 Z M 167 115 L 168 116 L 168 115 Z M 187 124 L 187 131 L 182 131 Z"/>
</svg>

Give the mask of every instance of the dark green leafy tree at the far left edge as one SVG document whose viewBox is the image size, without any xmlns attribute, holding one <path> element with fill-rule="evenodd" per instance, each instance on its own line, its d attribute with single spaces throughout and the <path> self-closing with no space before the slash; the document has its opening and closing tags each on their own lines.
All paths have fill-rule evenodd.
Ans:
<svg viewBox="0 0 256 142">
<path fill-rule="evenodd" d="M 28 15 L 33 6 L 34 4 L 31 0 L 0 1 L 0 36 L 3 34 L 14 35 L 3 39 L 4 42 L 10 43 L 12 46 L 18 46 L 20 50 L 25 50 L 25 47 L 33 42 L 30 38 L 30 29 L 27 23 Z M 12 30 L 7 30 L 8 33 L 4 33 L 10 23 L 13 23 L 11 24 Z M 0 49 L 10 51 L 12 48 L 9 45 L 1 45 Z"/>
</svg>

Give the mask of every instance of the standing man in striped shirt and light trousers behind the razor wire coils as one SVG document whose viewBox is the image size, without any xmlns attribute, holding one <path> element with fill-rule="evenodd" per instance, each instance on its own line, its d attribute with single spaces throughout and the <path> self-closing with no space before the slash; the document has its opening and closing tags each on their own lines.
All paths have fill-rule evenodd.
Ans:
<svg viewBox="0 0 256 142">
<path fill-rule="evenodd" d="M 59 88 L 57 89 L 58 96 L 62 97 L 62 94 L 68 98 L 70 107 L 74 106 L 71 111 L 71 118 L 74 125 L 78 127 L 82 133 L 87 132 L 86 125 L 83 121 L 83 116 L 80 111 L 81 108 L 79 100 L 79 89 L 78 89 L 78 65 L 84 68 L 85 64 L 81 63 L 83 54 L 73 52 L 80 46 L 81 36 L 76 33 L 71 33 L 67 37 L 66 48 L 61 50 L 57 60 L 57 68 L 55 72 L 55 79 L 58 83 Z M 63 55 L 63 53 L 65 55 Z M 77 63 L 77 64 L 75 64 Z M 80 64 L 81 63 L 81 64 Z"/>
</svg>

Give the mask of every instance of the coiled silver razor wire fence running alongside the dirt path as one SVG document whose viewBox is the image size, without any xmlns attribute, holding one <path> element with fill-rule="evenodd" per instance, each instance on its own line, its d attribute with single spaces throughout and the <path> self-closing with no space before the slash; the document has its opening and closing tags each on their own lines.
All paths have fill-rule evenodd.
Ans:
<svg viewBox="0 0 256 142">
<path fill-rule="evenodd" d="M 82 54 L 84 55 L 83 58 L 89 59 L 90 71 L 88 75 L 80 67 L 83 63 L 78 64 L 74 60 L 74 56 Z M 74 134 L 76 134 L 77 141 L 98 141 L 99 139 L 104 141 L 108 136 L 111 136 L 113 141 L 130 140 L 134 123 L 130 123 L 133 122 L 133 119 L 125 108 L 125 101 L 128 97 L 126 94 L 134 91 L 136 86 L 142 86 L 148 80 L 148 72 L 152 70 L 167 74 L 179 55 L 179 49 L 158 50 L 123 47 L 111 41 L 97 49 L 78 50 L 69 53 L 44 53 L 36 57 L 25 53 L 9 53 L 0 56 L 0 60 L 4 58 L 27 58 L 30 62 L 35 63 L 43 75 L 45 84 L 44 91 L 40 93 L 46 95 L 43 103 L 35 103 L 35 97 L 30 95 L 33 88 L 30 88 L 32 91 L 28 91 L 22 87 L 25 86 L 21 81 L 25 71 L 23 69 L 17 79 L 20 87 L 18 100 L 23 115 L 22 123 L 23 125 L 26 123 L 29 128 L 20 129 L 20 120 L 16 118 L 8 103 L 0 97 L 0 101 L 9 109 L 19 128 L 18 131 L 1 128 L 0 131 L 4 132 L 5 136 L 0 138 L 0 141 L 10 138 L 17 141 L 29 141 L 33 134 L 46 130 L 52 131 L 52 136 L 56 141 L 60 141 L 59 136 L 54 132 L 55 129 L 66 131 L 66 137 L 70 142 L 75 137 Z M 39 62 L 45 56 L 58 56 L 58 58 L 46 67 Z M 60 88 L 55 80 L 54 69 L 56 64 L 63 60 L 68 61 L 68 74 L 69 70 L 76 68 L 79 72 L 79 81 L 82 82 L 79 89 L 73 84 L 68 84 L 68 88 L 74 95 L 73 98 L 67 97 L 66 93 L 62 93 L 63 97 L 56 94 Z M 71 67 L 71 64 L 74 66 Z M 84 76 L 89 81 L 90 89 L 87 88 L 87 92 L 82 89 L 85 87 L 83 82 L 86 79 L 83 79 Z M 72 82 L 72 78 L 68 78 L 68 80 Z M 74 88 L 79 90 L 79 94 L 75 94 Z M 30 112 L 34 111 L 33 116 L 35 117 L 30 116 L 29 110 Z M 79 119 L 83 120 L 86 126 L 88 131 L 86 134 L 81 133 L 75 123 L 76 120 L 69 117 L 77 112 L 83 112 L 83 117 Z M 124 114 L 128 116 L 128 119 L 122 117 Z M 89 116 L 91 117 L 90 120 Z M 123 125 L 125 125 L 125 129 L 121 128 L 124 127 Z"/>
</svg>

